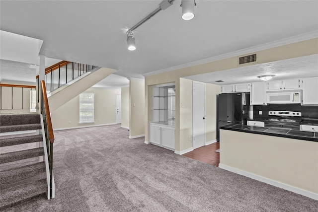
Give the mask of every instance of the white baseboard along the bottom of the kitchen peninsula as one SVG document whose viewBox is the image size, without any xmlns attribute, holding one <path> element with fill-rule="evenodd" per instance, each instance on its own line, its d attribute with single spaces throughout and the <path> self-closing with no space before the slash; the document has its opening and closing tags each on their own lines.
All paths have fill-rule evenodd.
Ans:
<svg viewBox="0 0 318 212">
<path fill-rule="evenodd" d="M 251 179 L 254 179 L 254 180 L 257 180 L 257 181 L 260 181 L 263 183 L 267 183 L 267 184 L 272 185 L 272 186 L 276 186 L 276 187 L 285 189 L 287 191 L 294 192 L 296 194 L 303 195 L 305 197 L 309 197 L 309 198 L 314 199 L 314 200 L 318 200 L 318 194 L 310 192 L 310 191 L 306 191 L 306 190 L 303 190 L 303 189 L 300 189 L 300 188 L 297 188 L 297 187 L 294 187 L 294 186 L 291 186 L 291 185 L 288 185 L 285 183 L 281 183 L 281 182 L 278 182 L 278 181 L 275 181 L 275 180 L 272 180 L 272 179 L 269 179 L 266 177 L 262 177 L 262 176 L 259 176 L 259 175 L 256 175 L 256 174 L 253 174 L 253 173 L 250 173 L 247 171 L 243 171 L 243 170 L 240 170 L 240 169 L 228 166 L 228 165 L 224 165 L 221 163 L 219 163 L 219 168 L 243 175 L 245 177 L 249 177 Z"/>
</svg>

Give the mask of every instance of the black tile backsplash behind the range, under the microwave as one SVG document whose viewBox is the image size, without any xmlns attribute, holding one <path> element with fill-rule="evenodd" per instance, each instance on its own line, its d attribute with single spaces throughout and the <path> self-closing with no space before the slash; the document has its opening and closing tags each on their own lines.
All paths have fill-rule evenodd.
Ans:
<svg viewBox="0 0 318 212">
<path fill-rule="evenodd" d="M 268 111 L 277 110 L 302 112 L 303 118 L 318 119 L 318 106 L 301 106 L 298 104 L 254 105 L 254 118 L 268 118 Z M 262 111 L 262 115 L 259 115 L 259 111 Z"/>
</svg>

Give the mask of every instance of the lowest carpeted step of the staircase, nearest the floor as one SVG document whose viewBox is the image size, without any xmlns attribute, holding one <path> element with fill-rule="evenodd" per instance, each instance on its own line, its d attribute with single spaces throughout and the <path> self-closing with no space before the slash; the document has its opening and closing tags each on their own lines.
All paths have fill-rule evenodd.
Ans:
<svg viewBox="0 0 318 212">
<path fill-rule="evenodd" d="M 1 190 L 0 195 L 0 211 L 12 206 L 13 204 L 21 203 L 30 200 L 36 196 L 46 194 L 46 180 L 28 182 L 22 185 L 16 185 L 4 190 Z"/>
</svg>

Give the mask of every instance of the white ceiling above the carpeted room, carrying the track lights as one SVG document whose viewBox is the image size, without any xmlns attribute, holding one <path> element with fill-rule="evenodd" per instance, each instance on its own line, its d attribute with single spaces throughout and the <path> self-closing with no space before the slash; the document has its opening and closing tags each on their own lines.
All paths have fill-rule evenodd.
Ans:
<svg viewBox="0 0 318 212">
<path fill-rule="evenodd" d="M 306 33 L 318 37 L 316 0 L 196 1 L 190 21 L 181 19 L 175 0 L 136 29 L 136 51 L 127 50 L 125 31 L 161 0 L 1 0 L 0 30 L 43 40 L 46 57 L 135 78 Z M 223 80 L 231 80 L 229 73 Z"/>
</svg>

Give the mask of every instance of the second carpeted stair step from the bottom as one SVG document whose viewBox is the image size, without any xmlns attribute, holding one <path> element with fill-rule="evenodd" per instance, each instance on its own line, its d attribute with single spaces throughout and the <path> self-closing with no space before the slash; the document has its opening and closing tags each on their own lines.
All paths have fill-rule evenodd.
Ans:
<svg viewBox="0 0 318 212">
<path fill-rule="evenodd" d="M 0 185 L 29 178 L 43 172 L 45 173 L 44 162 L 7 169 L 0 172 Z"/>
</svg>

